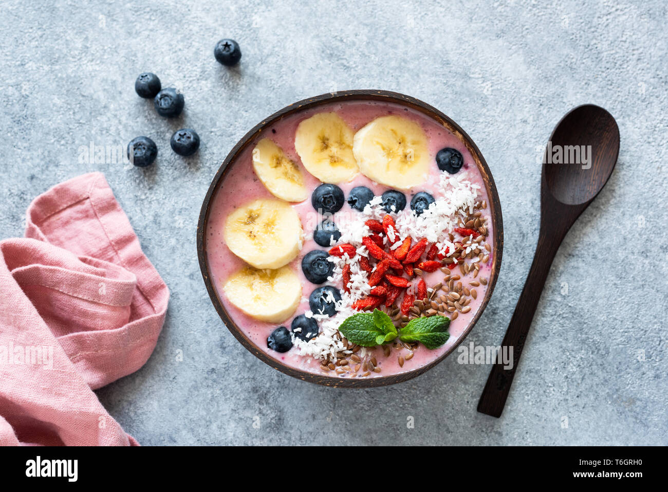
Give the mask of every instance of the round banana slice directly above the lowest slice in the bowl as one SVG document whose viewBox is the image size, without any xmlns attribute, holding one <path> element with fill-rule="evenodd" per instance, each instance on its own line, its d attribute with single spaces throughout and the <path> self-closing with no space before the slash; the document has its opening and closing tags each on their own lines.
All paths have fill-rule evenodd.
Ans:
<svg viewBox="0 0 668 492">
<path fill-rule="evenodd" d="M 224 238 L 230 251 L 255 268 L 280 268 L 299 249 L 303 231 L 297 212 L 286 202 L 259 199 L 227 217 Z"/>
</svg>

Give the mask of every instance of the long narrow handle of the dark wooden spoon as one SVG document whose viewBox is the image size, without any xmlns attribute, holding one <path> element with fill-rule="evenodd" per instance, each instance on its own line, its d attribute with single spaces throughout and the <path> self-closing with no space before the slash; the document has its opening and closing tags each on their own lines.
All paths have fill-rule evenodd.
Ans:
<svg viewBox="0 0 668 492">
<path fill-rule="evenodd" d="M 529 332 L 531 320 L 534 318 L 534 312 L 540 299 L 540 293 L 545 285 L 545 280 L 550 272 L 550 265 L 552 265 L 552 260 L 556 255 L 561 239 L 563 239 L 563 235 L 559 238 L 554 237 L 553 234 L 544 234 L 544 231 L 540 232 L 534 261 L 531 264 L 528 277 L 526 277 L 524 289 L 520 294 L 508 330 L 506 330 L 506 336 L 504 336 L 501 344 L 502 347 L 513 348 L 512 368 L 504 369 L 504 364 L 498 362 L 492 366 L 490 376 L 487 378 L 487 383 L 478 402 L 478 412 L 494 417 L 501 416 L 501 412 L 503 412 L 508 392 L 510 392 L 512 378 L 520 362 L 526 335 Z"/>
</svg>

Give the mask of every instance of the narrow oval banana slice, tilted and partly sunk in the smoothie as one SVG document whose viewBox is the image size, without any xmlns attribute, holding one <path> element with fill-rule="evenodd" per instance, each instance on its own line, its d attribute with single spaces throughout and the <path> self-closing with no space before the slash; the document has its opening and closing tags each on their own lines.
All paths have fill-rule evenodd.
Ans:
<svg viewBox="0 0 668 492">
<path fill-rule="evenodd" d="M 253 149 L 253 169 L 275 197 L 289 202 L 303 202 L 309 197 L 299 166 L 269 138 L 257 142 Z"/>
</svg>

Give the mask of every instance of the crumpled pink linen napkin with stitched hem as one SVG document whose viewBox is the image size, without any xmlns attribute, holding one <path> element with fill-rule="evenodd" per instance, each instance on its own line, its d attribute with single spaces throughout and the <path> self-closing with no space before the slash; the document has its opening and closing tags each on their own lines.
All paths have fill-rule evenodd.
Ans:
<svg viewBox="0 0 668 492">
<path fill-rule="evenodd" d="M 137 445 L 94 389 L 153 352 L 169 291 L 100 172 L 37 197 L 0 241 L 0 445 Z"/>
</svg>

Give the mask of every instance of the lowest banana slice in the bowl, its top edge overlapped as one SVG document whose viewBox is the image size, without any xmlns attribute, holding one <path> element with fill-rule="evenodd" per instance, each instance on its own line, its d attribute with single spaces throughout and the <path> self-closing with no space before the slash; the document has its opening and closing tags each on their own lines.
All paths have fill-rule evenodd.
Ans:
<svg viewBox="0 0 668 492">
<path fill-rule="evenodd" d="M 230 276 L 222 289 L 229 301 L 248 316 L 268 323 L 283 323 L 301 301 L 301 282 L 290 267 L 244 267 Z"/>
</svg>

